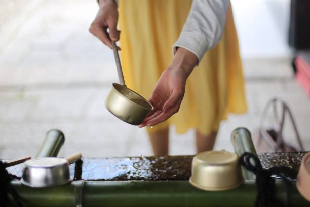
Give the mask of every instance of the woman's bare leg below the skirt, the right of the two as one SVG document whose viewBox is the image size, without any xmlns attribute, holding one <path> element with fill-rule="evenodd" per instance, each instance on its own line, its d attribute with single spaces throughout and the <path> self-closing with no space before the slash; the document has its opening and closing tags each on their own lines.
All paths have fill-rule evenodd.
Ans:
<svg viewBox="0 0 310 207">
<path fill-rule="evenodd" d="M 197 153 L 212 150 L 215 143 L 217 131 L 212 131 L 209 135 L 203 135 L 196 130 L 196 149 Z"/>
</svg>

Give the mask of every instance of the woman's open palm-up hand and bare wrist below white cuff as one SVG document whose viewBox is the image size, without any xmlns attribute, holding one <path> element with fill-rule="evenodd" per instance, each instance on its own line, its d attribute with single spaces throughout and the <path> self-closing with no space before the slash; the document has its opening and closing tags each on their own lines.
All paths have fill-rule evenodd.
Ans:
<svg viewBox="0 0 310 207">
<path fill-rule="evenodd" d="M 139 127 L 153 126 L 166 121 L 180 109 L 185 94 L 185 84 L 198 58 L 192 52 L 178 48 L 171 65 L 162 73 L 149 99 L 154 110 Z"/>
</svg>

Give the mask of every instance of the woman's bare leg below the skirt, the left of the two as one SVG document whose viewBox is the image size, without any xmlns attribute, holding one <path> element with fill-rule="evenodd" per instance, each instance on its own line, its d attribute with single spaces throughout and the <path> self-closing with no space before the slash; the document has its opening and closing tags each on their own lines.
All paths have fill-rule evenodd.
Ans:
<svg viewBox="0 0 310 207">
<path fill-rule="evenodd" d="M 169 128 L 149 133 L 154 155 L 168 155 Z"/>
</svg>

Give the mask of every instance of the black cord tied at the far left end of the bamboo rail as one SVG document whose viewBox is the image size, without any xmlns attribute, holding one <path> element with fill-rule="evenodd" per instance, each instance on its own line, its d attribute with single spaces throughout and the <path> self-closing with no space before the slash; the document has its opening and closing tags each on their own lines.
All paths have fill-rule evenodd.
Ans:
<svg viewBox="0 0 310 207">
<path fill-rule="evenodd" d="M 10 182 L 14 179 L 18 179 L 17 176 L 9 174 L 6 170 L 7 164 L 0 161 L 0 207 L 7 207 L 9 202 L 9 194 L 11 194 L 14 202 L 18 207 L 22 207 L 20 197 L 16 193 L 15 189 L 10 185 Z"/>
</svg>

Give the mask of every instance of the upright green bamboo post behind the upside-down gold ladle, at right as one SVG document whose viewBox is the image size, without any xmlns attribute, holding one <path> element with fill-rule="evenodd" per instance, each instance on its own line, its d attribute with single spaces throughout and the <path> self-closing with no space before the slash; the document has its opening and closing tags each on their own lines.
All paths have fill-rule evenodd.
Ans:
<svg viewBox="0 0 310 207">
<path fill-rule="evenodd" d="M 241 156 L 245 152 L 251 152 L 257 155 L 251 133 L 248 129 L 240 127 L 231 132 L 231 143 L 234 146 L 235 152 Z M 242 174 L 246 180 L 254 180 L 255 175 L 242 167 Z"/>
</svg>

